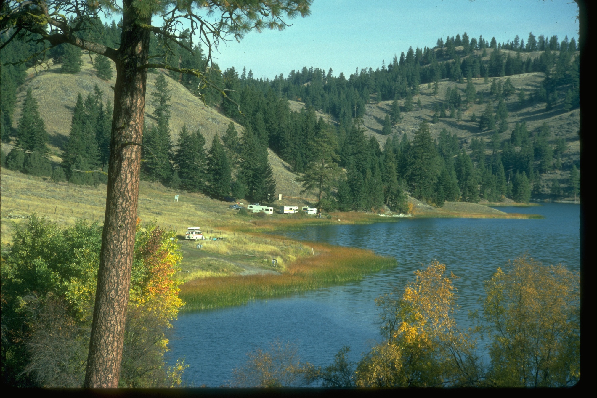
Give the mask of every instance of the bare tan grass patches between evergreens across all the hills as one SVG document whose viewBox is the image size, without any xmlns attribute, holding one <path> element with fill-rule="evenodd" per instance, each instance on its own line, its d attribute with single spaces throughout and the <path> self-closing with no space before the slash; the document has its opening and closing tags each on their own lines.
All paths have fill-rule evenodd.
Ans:
<svg viewBox="0 0 597 398">
<path fill-rule="evenodd" d="M 504 57 L 509 51 L 504 50 Z M 512 51 L 510 52 L 515 55 Z M 540 55 L 536 53 L 522 53 L 522 58 L 525 60 L 528 57 L 534 58 Z M 159 72 L 150 73 L 147 79 L 147 103 L 146 103 L 146 121 L 151 124 L 155 122 L 152 113 L 153 106 L 150 103 L 150 93 L 153 91 L 155 79 Z M 497 78 L 497 81 L 505 82 L 510 79 L 513 87 L 518 90 L 523 90 L 527 98 L 533 94 L 543 81 L 543 73 L 525 73 L 522 75 L 507 76 L 504 78 Z M 230 119 L 219 113 L 219 110 L 212 107 L 205 106 L 197 97 L 190 94 L 186 88 L 178 84 L 173 79 L 166 76 L 168 84 L 171 88 L 171 113 L 170 128 L 173 143 L 176 143 L 179 131 L 183 124 L 186 124 L 190 130 L 199 128 L 205 136 L 206 145 L 210 145 L 214 135 L 223 135 L 226 131 Z M 493 95 L 490 95 L 490 87 L 493 78 L 489 79 L 488 84 L 485 84 L 484 79 L 473 79 L 476 92 L 483 92 L 485 94 L 486 102 L 492 101 L 494 108 L 497 107 L 497 101 Z M 29 76 L 26 83 L 20 87 L 16 115 L 14 121 L 19 120 L 20 117 L 20 101 L 22 101 L 24 94 L 28 87 L 33 88 L 33 93 L 38 100 L 41 116 L 45 121 L 48 132 L 50 134 L 50 150 L 52 160 L 60 162 L 61 151 L 67 140 L 70 128 L 70 118 L 73 112 L 73 106 L 79 92 L 86 96 L 93 91 L 94 85 L 98 85 L 104 92 L 104 100 L 112 100 L 113 91 L 111 85 L 115 84 L 115 78 L 110 82 L 102 81 L 97 78 L 96 73 L 91 65 L 90 59 L 84 57 L 84 65 L 81 72 L 76 75 L 66 75 L 59 72 L 59 66 L 50 66 L 47 70 L 41 73 L 36 73 L 35 70 L 29 70 Z M 462 83 L 448 81 L 444 79 L 439 81 L 438 95 L 433 95 L 433 89 L 428 88 L 427 84 L 421 84 L 419 87 L 419 94 L 413 98 L 414 110 L 411 112 L 402 112 L 402 122 L 393 127 L 393 133 L 402 136 L 406 133 L 407 137 L 412 139 L 414 132 L 421 121 L 426 120 L 431 122 L 433 119 L 434 107 L 436 104 L 441 104 L 445 98 L 445 93 L 448 89 L 458 88 L 461 96 L 464 98 L 464 90 L 466 88 L 466 81 Z M 373 96 L 372 96 L 373 97 Z M 404 99 L 399 100 L 398 103 L 404 106 Z M 421 107 L 417 106 L 417 101 L 420 101 Z M 303 103 L 298 101 L 289 101 L 291 110 L 300 110 L 304 107 Z M 366 134 L 376 137 L 376 139 L 383 146 L 387 137 L 381 135 L 383 127 L 383 120 L 390 111 L 392 101 L 381 101 L 376 103 L 373 98 L 370 103 L 366 105 L 364 116 L 364 127 L 367 129 Z M 568 143 L 568 149 L 562 158 L 562 170 L 553 170 L 541 175 L 541 182 L 543 192 L 547 196 L 549 193 L 549 186 L 553 178 L 558 178 L 561 181 L 562 187 L 568 181 L 570 169 L 573 163 L 578 164 L 580 153 L 580 141 L 578 138 L 578 129 L 580 128 L 580 112 L 578 109 L 564 112 L 562 105 L 558 104 L 552 110 L 546 112 L 543 103 L 528 103 L 524 107 L 518 105 L 516 95 L 511 95 L 507 98 L 507 107 L 509 111 L 509 130 L 501 133 L 501 140 L 508 140 L 510 133 L 516 122 L 526 122 L 528 130 L 533 134 L 536 132 L 543 122 L 551 127 L 552 143 L 555 143 L 559 138 L 564 138 Z M 468 144 L 473 137 L 480 138 L 486 142 L 490 141 L 491 132 L 480 132 L 478 124 L 471 121 L 473 113 L 479 118 L 485 109 L 485 103 L 469 104 L 467 109 L 463 112 L 462 120 L 457 121 L 456 118 L 439 118 L 435 124 L 430 124 L 432 137 L 437 137 L 442 128 L 447 128 L 448 131 L 453 132 L 460 139 L 461 143 Z M 316 112 L 316 116 L 322 116 L 325 121 L 334 122 L 330 115 L 325 115 L 321 112 Z M 236 129 L 242 132 L 242 127 L 235 123 Z M 8 153 L 11 149 L 10 144 L 3 144 L 3 150 Z M 489 152 L 487 152 L 489 153 Z M 294 198 L 315 198 L 314 193 L 300 193 L 300 184 L 296 183 L 296 174 L 291 172 L 291 167 L 288 163 L 282 161 L 275 153 L 269 150 L 269 161 L 272 164 L 278 193 L 284 196 Z M 562 198 L 570 199 L 570 198 Z M 301 199 L 287 199 L 281 204 L 298 204 L 296 202 L 306 202 Z"/>
</svg>

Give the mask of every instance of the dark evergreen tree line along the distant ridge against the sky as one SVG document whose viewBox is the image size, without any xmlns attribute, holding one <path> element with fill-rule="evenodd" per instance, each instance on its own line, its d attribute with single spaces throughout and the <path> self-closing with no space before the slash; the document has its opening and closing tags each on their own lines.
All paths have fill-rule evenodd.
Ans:
<svg viewBox="0 0 597 398">
<path fill-rule="evenodd" d="M 531 35 L 532 36 L 532 35 Z M 458 36 L 457 36 L 458 37 Z M 534 36 L 533 36 L 534 37 Z M 452 39 L 451 39 L 452 40 Z M 407 54 L 401 54 L 401 57 L 394 57 L 392 63 L 382 64 L 381 69 L 377 68 L 357 68 L 353 75 L 348 79 L 343 73 L 336 78 L 330 69 L 325 70 L 317 68 L 303 67 L 300 71 L 291 71 L 288 78 L 283 75 L 276 76 L 273 80 L 254 79 L 253 73 L 248 74 L 246 70 L 239 76 L 234 68 L 224 72 L 224 81 L 228 90 L 233 92 L 233 99 L 241 104 L 241 109 L 245 105 L 244 97 L 240 94 L 246 85 L 256 87 L 256 90 L 263 91 L 265 95 L 269 90 L 278 95 L 286 97 L 289 100 L 303 101 L 307 105 L 313 106 L 316 110 L 329 113 L 339 121 L 347 122 L 347 119 L 361 117 L 364 113 L 365 104 L 371 100 L 412 100 L 409 97 L 418 94 L 418 85 L 421 83 L 438 82 L 440 79 L 451 79 L 462 82 L 464 78 L 485 78 L 517 75 L 528 72 L 543 72 L 547 76 L 556 75 L 555 79 L 548 79 L 540 89 L 533 100 L 548 102 L 551 95 L 551 106 L 556 101 L 564 100 L 564 103 L 570 103 L 568 110 L 578 106 L 578 57 L 575 55 L 576 42 L 564 39 L 563 44 L 555 46 L 558 48 L 559 55 L 552 52 L 549 45 L 543 45 L 544 50 L 538 56 L 525 55 L 518 47 L 515 57 L 510 54 L 504 55 L 502 48 L 508 49 L 509 45 L 491 45 L 484 39 L 483 45 L 478 46 L 478 42 L 473 39 L 473 50 L 484 50 L 477 54 L 471 51 L 454 51 L 450 59 L 438 61 L 438 47 L 413 50 L 410 48 Z M 450 41 L 451 42 L 451 41 Z M 456 41 L 458 42 L 458 41 Z M 461 40 L 462 42 L 462 40 Z M 493 42 L 493 41 L 492 41 Z M 557 44 L 557 42 L 556 42 Z M 441 49 L 445 49 L 442 44 Z M 448 45 L 450 48 L 450 45 Z M 482 60 L 487 56 L 487 48 L 491 54 L 488 61 Z M 514 47 L 513 47 L 514 48 Z M 529 47 L 528 51 L 538 51 L 537 45 Z M 534 50 L 531 50 L 534 49 Z M 564 50 L 561 50 L 564 49 Z M 523 49 L 526 50 L 526 47 Z M 442 50 L 443 51 L 443 50 Z M 464 52 L 463 52 L 464 51 Z M 462 56 L 462 57 L 461 57 Z M 553 73 L 552 73 L 553 72 Z M 556 89 L 563 90 L 558 95 Z M 568 94 L 570 90 L 570 94 Z M 555 94 L 554 94 L 555 92 Z M 565 95 L 568 95 L 567 98 Z M 248 97 L 251 97 L 250 95 Z M 410 106 L 405 103 L 404 109 L 409 112 Z M 236 107 L 231 105 L 227 109 L 227 116 L 235 117 L 238 113 Z M 412 109 L 410 109 L 412 110 Z"/>
</svg>

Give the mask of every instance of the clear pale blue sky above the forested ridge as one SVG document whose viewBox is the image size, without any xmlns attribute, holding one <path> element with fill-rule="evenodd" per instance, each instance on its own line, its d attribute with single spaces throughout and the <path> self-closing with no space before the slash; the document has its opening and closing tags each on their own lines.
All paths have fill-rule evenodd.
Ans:
<svg viewBox="0 0 597 398">
<path fill-rule="evenodd" d="M 290 20 L 282 32 L 249 33 L 214 55 L 221 70 L 247 67 L 256 78 L 303 66 L 349 76 L 457 33 L 498 42 L 516 35 L 526 42 L 529 32 L 578 39 L 576 13 L 573 0 L 315 0 L 309 17 Z"/>
</svg>

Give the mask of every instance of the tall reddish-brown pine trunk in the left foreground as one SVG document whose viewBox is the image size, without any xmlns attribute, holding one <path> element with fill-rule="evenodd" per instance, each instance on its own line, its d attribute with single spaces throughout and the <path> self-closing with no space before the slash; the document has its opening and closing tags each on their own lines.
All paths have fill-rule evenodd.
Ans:
<svg viewBox="0 0 597 398">
<path fill-rule="evenodd" d="M 85 387 L 118 387 L 139 199 L 141 138 L 149 31 L 124 0 L 122 40 L 116 60 L 106 215 L 101 237 L 96 303 Z"/>
</svg>

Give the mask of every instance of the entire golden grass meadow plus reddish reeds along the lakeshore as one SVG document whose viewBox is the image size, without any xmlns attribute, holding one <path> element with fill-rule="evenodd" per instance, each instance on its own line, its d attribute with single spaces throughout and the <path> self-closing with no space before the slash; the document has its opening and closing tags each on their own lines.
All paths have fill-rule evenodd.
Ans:
<svg viewBox="0 0 597 398">
<path fill-rule="evenodd" d="M 2 243 L 9 242 L 11 237 L 12 224 L 7 219 L 8 214 L 27 215 L 37 212 L 61 225 L 73 224 L 77 218 L 87 218 L 101 224 L 105 205 L 104 185 L 89 187 L 57 184 L 47 178 L 31 177 L 5 169 L 2 169 L 1 177 Z M 143 220 L 155 220 L 162 227 L 174 229 L 181 239 L 189 226 L 201 227 L 207 238 L 223 238 L 215 241 L 180 242 L 183 250 L 183 272 L 178 276 L 185 281 L 180 295 L 187 302 L 184 308 L 187 311 L 235 306 L 258 298 L 359 280 L 368 273 L 396 264 L 395 259 L 378 257 L 371 251 L 322 243 L 296 242 L 285 237 L 260 233 L 300 228 L 307 224 L 389 221 L 387 218 L 380 220 L 377 214 L 335 212 L 330 215 L 331 218 L 315 218 L 301 214 L 241 216 L 236 211 L 227 209 L 229 203 L 226 202 L 196 193 L 183 193 L 179 202 L 174 202 L 174 194 L 175 192 L 161 184 L 141 181 L 139 217 Z M 450 209 L 450 202 L 447 205 L 446 209 Z M 456 203 L 454 206 L 485 209 L 485 212 L 462 212 L 462 208 L 458 213 L 439 209 L 439 212 L 432 213 L 420 211 L 420 215 L 534 217 L 527 214 L 506 214 L 474 203 Z M 420 207 L 423 208 L 423 205 Z M 196 243 L 201 243 L 203 247 L 196 249 Z M 272 258 L 278 260 L 278 264 L 273 265 Z M 241 271 L 251 274 L 240 276 Z M 272 273 L 273 271 L 278 274 Z"/>
</svg>

